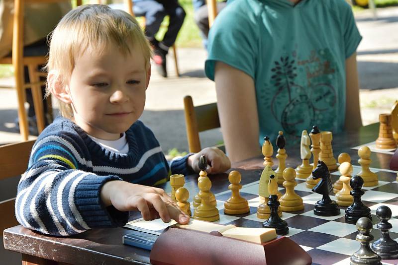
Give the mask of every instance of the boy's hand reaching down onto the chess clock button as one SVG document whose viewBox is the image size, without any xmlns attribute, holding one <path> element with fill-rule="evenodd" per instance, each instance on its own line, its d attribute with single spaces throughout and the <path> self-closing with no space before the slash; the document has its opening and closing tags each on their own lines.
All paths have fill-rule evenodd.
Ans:
<svg viewBox="0 0 398 265">
<path fill-rule="evenodd" d="M 187 224 L 190 220 L 162 189 L 114 180 L 102 186 L 100 196 L 105 206 L 113 205 L 119 211 L 138 210 L 146 221 L 160 217 L 165 223 L 174 219 Z"/>
</svg>

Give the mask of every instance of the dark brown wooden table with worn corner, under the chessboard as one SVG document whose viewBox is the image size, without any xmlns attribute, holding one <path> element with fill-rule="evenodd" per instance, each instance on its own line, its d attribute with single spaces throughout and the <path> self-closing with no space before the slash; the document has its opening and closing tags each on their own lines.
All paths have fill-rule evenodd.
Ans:
<svg viewBox="0 0 398 265">
<path fill-rule="evenodd" d="M 334 135 L 335 156 L 341 152 L 348 152 L 352 161 L 357 161 L 357 151 L 351 150 L 350 147 L 374 141 L 378 136 L 378 130 L 379 125 L 373 124 L 355 132 Z M 301 163 L 298 144 L 288 145 L 286 150 L 289 155 L 287 167 L 296 167 Z M 371 159 L 373 161 L 371 167 L 388 169 L 391 155 L 372 153 Z M 263 157 L 257 157 L 233 164 L 233 168 L 239 168 L 242 173 L 241 184 L 259 179 L 263 168 L 262 162 Z M 277 160 L 274 159 L 274 162 Z M 186 177 L 185 187 L 191 194 L 198 192 L 197 178 L 196 175 Z M 226 173 L 212 176 L 211 181 L 211 191 L 214 194 L 228 189 L 229 182 Z M 130 216 L 131 219 L 134 217 L 136 218 L 137 215 Z M 26 262 L 24 264 L 150 264 L 149 251 L 121 243 L 122 236 L 128 234 L 129 231 L 126 228 L 89 230 L 76 236 L 63 238 L 45 236 L 18 225 L 4 230 L 4 248 L 22 253 L 22 259 Z"/>
</svg>

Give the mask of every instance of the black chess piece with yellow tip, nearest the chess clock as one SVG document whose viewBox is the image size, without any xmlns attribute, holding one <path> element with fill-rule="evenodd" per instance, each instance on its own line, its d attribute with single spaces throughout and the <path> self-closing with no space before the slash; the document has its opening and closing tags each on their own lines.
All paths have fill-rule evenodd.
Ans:
<svg viewBox="0 0 398 265">
<path fill-rule="evenodd" d="M 275 176 L 271 175 L 270 181 L 274 178 L 275 178 Z M 278 215 L 278 207 L 280 204 L 281 203 L 278 201 L 278 196 L 276 194 L 270 195 L 267 205 L 270 207 L 271 213 L 270 213 L 270 217 L 268 218 L 268 220 L 264 221 L 263 227 L 275 228 L 276 233 L 278 235 L 283 236 L 289 232 L 289 227 L 288 227 L 288 223 L 285 220 L 281 219 L 281 217 L 279 217 L 279 215 Z"/>
</svg>

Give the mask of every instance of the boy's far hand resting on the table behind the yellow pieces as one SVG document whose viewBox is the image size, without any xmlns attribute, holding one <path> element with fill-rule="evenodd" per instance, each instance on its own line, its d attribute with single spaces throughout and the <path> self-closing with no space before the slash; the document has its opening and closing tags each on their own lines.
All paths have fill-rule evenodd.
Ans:
<svg viewBox="0 0 398 265">
<path fill-rule="evenodd" d="M 195 171 L 199 172 L 199 157 L 204 155 L 207 159 L 206 172 L 209 174 L 225 172 L 231 168 L 231 161 L 224 154 L 224 152 L 217 147 L 207 147 L 202 149 L 199 153 L 188 157 L 188 165 Z"/>
</svg>

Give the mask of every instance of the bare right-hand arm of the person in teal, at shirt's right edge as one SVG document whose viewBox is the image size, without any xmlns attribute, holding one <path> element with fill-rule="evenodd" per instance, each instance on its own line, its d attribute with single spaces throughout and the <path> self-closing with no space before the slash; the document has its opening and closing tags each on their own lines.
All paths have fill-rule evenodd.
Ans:
<svg viewBox="0 0 398 265">
<path fill-rule="evenodd" d="M 352 54 L 345 60 L 346 66 L 346 130 L 358 129 L 362 126 L 361 111 L 359 106 L 359 81 L 357 70 L 357 54 Z"/>
</svg>

